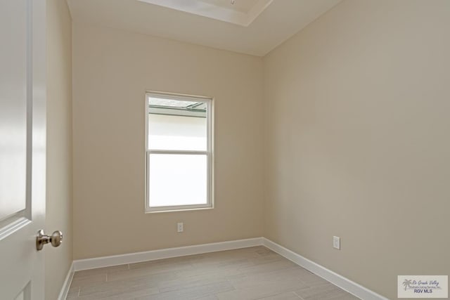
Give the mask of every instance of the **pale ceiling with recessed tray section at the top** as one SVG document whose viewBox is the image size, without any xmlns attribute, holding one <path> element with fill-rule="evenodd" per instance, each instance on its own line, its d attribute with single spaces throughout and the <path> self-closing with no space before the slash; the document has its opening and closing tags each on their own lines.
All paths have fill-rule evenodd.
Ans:
<svg viewBox="0 0 450 300">
<path fill-rule="evenodd" d="M 75 22 L 264 56 L 340 1 L 235 0 L 232 5 L 231 0 L 68 0 L 68 4 Z"/>
</svg>

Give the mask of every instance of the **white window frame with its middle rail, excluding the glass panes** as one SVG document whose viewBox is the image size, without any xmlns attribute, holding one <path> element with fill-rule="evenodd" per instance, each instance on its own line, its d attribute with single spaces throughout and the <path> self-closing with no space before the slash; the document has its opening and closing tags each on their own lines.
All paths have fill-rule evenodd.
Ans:
<svg viewBox="0 0 450 300">
<path fill-rule="evenodd" d="M 203 102 L 207 105 L 206 117 L 207 117 L 207 148 L 205 151 L 198 150 L 150 150 L 148 148 L 148 98 L 165 98 L 173 100 L 184 100 L 184 101 L 195 101 Z M 148 91 L 146 92 L 145 100 L 145 112 L 146 112 L 146 128 L 145 128 L 145 151 L 146 151 L 146 174 L 145 174 L 145 187 L 146 187 L 146 200 L 145 208 L 146 213 L 153 212 L 165 212 L 165 211 L 184 211 L 193 209 L 212 209 L 214 208 L 214 106 L 213 98 L 204 96 L 191 96 L 178 93 L 165 93 L 158 91 Z M 177 205 L 177 206 L 167 206 L 167 207 L 150 207 L 149 191 L 148 191 L 148 178 L 150 171 L 150 154 L 182 154 L 182 155 L 206 155 L 207 157 L 207 203 L 206 204 L 188 204 L 188 205 Z"/>
</svg>

